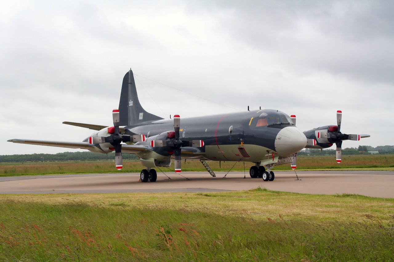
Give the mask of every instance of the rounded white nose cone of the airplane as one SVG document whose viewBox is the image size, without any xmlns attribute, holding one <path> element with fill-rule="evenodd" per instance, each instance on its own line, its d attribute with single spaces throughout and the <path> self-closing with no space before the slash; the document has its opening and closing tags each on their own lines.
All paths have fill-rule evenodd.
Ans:
<svg viewBox="0 0 394 262">
<path fill-rule="evenodd" d="M 281 157 L 297 153 L 307 145 L 307 137 L 295 126 L 288 126 L 275 139 L 275 150 Z"/>
</svg>

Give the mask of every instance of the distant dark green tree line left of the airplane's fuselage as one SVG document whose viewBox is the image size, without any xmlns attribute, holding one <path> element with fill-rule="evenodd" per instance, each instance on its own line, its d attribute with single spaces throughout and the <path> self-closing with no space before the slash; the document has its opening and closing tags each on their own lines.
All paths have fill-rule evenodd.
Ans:
<svg viewBox="0 0 394 262">
<path fill-rule="evenodd" d="M 123 159 L 137 159 L 136 155 L 123 153 Z M 0 162 L 43 162 L 43 161 L 95 161 L 113 160 L 115 153 L 64 152 L 57 154 L 0 155 Z"/>
</svg>

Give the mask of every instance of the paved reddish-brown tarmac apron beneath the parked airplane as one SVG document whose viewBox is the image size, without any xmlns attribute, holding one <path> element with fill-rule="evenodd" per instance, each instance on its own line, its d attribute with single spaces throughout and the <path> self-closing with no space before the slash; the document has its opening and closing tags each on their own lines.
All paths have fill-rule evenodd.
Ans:
<svg viewBox="0 0 394 262">
<path fill-rule="evenodd" d="M 394 171 L 275 172 L 274 181 L 249 172 L 159 173 L 156 182 L 139 182 L 139 173 L 0 177 L 0 194 L 86 194 L 117 192 L 219 192 L 253 188 L 305 194 L 359 194 L 394 198 Z M 226 175 L 226 177 L 224 177 Z"/>
</svg>

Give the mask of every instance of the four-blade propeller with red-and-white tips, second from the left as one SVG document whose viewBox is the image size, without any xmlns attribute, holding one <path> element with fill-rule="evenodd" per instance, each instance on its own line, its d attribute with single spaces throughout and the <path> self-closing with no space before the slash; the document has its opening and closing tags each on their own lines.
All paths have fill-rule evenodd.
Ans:
<svg viewBox="0 0 394 262">
<path fill-rule="evenodd" d="M 174 165 L 175 172 L 181 172 L 181 157 L 180 153 L 182 151 L 182 147 L 184 146 L 193 146 L 193 147 L 203 147 L 203 140 L 192 140 L 192 141 L 182 141 L 179 139 L 179 130 L 180 130 L 180 116 L 176 114 L 174 116 L 174 131 L 167 133 L 168 140 L 152 140 L 151 146 L 154 147 L 165 147 L 168 146 L 173 150 L 174 155 Z"/>
</svg>

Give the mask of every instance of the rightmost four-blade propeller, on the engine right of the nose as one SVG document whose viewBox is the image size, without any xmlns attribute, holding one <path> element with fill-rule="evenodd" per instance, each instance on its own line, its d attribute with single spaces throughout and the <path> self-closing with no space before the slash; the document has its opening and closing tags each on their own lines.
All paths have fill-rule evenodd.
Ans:
<svg viewBox="0 0 394 262">
<path fill-rule="evenodd" d="M 342 111 L 336 111 L 336 125 L 328 127 L 328 132 L 318 132 L 317 138 L 327 138 L 329 142 L 335 143 L 336 145 L 336 162 L 342 161 L 342 141 L 343 140 L 355 140 L 358 141 L 360 138 L 370 137 L 370 135 L 354 135 L 341 133 L 341 122 L 342 122 Z"/>
</svg>

